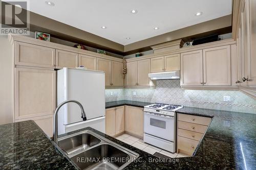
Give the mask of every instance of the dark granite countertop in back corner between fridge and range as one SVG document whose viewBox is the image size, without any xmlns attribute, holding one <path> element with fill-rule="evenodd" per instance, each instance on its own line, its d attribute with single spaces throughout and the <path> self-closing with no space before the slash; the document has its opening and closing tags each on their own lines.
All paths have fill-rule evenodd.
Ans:
<svg viewBox="0 0 256 170">
<path fill-rule="evenodd" d="M 118 107 L 118 106 L 123 106 L 123 105 L 144 107 L 144 106 L 151 105 L 151 104 L 153 104 L 153 103 L 123 100 L 123 101 L 106 102 L 105 108 L 108 109 L 108 108 Z"/>
</svg>

